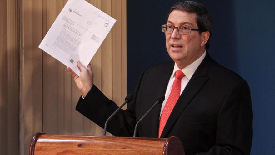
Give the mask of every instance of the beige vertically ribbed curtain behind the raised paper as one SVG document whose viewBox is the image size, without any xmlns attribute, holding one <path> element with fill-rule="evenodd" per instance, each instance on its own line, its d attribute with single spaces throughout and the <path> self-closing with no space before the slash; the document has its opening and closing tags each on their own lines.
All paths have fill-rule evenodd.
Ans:
<svg viewBox="0 0 275 155">
<path fill-rule="evenodd" d="M 117 20 L 91 64 L 94 83 L 121 104 L 127 94 L 126 1 L 87 1 Z M 37 132 L 102 135 L 75 111 L 80 92 L 66 66 L 38 48 L 66 2 L 0 0 L 0 154 L 28 154 Z"/>
</svg>

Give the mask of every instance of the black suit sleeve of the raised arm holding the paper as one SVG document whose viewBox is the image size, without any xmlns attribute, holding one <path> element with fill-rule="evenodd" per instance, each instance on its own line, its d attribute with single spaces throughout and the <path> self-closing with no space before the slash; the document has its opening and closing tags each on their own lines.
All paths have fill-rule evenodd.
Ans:
<svg viewBox="0 0 275 155">
<path fill-rule="evenodd" d="M 135 101 L 142 77 L 143 74 L 140 76 L 136 86 L 133 101 L 127 104 L 126 110 L 121 109 L 108 123 L 107 131 L 114 136 L 133 136 L 136 125 Z M 84 99 L 82 97 L 79 98 L 76 105 L 78 112 L 102 128 L 104 128 L 108 117 L 117 109 L 117 104 L 109 100 L 95 85 L 93 85 Z"/>
</svg>

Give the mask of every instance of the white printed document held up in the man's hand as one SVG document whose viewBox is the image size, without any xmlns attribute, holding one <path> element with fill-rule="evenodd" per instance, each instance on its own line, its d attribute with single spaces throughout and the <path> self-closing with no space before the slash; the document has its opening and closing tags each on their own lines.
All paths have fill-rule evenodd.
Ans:
<svg viewBox="0 0 275 155">
<path fill-rule="evenodd" d="M 38 47 L 79 76 L 77 61 L 88 66 L 115 22 L 85 0 L 69 0 Z"/>
</svg>

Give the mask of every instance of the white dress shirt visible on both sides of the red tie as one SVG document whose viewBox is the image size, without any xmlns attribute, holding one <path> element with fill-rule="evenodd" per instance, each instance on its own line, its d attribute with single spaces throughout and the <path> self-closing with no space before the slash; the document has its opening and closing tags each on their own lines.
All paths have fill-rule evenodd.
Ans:
<svg viewBox="0 0 275 155">
<path fill-rule="evenodd" d="M 190 65 L 186 66 L 184 69 L 182 69 L 182 72 L 184 73 L 184 77 L 181 80 L 181 91 L 180 94 L 182 94 L 184 88 L 186 87 L 186 85 L 188 84 L 189 80 L 191 79 L 191 77 L 193 76 L 193 74 L 195 73 L 195 71 L 197 70 L 198 66 L 201 64 L 202 60 L 205 58 L 206 56 L 206 51 L 204 51 L 204 53 L 202 54 L 201 57 L 199 57 L 199 59 L 197 59 L 196 61 L 192 62 Z M 165 92 L 165 100 L 163 101 L 161 110 L 160 110 L 160 116 L 162 114 L 163 108 L 168 100 L 168 97 L 170 95 L 170 92 L 172 90 L 172 86 L 173 86 L 173 82 L 175 80 L 175 72 L 177 70 L 180 70 L 178 68 L 178 65 L 175 63 L 174 65 L 174 70 L 173 73 L 169 79 L 168 85 L 167 85 L 167 89 Z M 159 117 L 160 117 L 159 116 Z"/>
</svg>

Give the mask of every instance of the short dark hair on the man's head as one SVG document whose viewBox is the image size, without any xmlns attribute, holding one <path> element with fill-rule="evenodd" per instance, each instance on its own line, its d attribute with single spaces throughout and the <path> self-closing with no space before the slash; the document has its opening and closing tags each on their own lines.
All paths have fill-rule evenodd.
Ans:
<svg viewBox="0 0 275 155">
<path fill-rule="evenodd" d="M 208 49 L 210 46 L 210 38 L 213 33 L 213 20 L 210 13 L 207 11 L 207 9 L 202 4 L 197 2 L 192 2 L 192 1 L 178 2 L 170 8 L 168 17 L 174 9 L 179 9 L 179 10 L 186 11 L 188 13 L 197 14 L 196 22 L 197 22 L 198 29 L 200 29 L 201 32 L 209 31 L 210 33 L 209 39 L 205 44 L 205 47 Z"/>
</svg>

